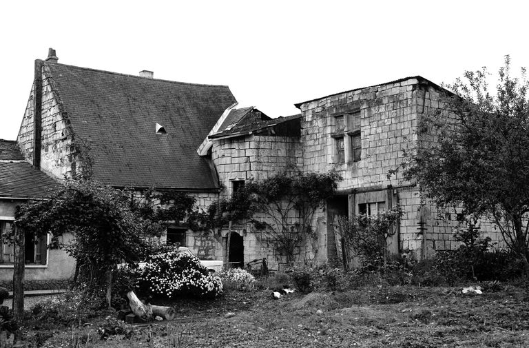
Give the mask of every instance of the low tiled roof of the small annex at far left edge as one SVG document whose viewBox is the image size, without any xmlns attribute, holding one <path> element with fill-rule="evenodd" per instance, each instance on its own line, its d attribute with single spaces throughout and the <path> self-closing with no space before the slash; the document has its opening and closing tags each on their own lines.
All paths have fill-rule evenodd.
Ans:
<svg viewBox="0 0 529 348">
<path fill-rule="evenodd" d="M 23 159 L 15 141 L 0 139 L 0 197 L 43 198 L 61 187 Z"/>
</svg>

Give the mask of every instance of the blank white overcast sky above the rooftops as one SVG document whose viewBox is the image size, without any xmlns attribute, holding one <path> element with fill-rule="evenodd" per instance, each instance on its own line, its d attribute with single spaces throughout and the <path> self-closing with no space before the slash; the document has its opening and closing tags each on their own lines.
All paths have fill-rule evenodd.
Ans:
<svg viewBox="0 0 529 348">
<path fill-rule="evenodd" d="M 16 139 L 34 59 L 229 85 L 271 117 L 422 75 L 450 83 L 504 55 L 529 65 L 524 1 L 2 1 L 0 139 Z"/>
</svg>

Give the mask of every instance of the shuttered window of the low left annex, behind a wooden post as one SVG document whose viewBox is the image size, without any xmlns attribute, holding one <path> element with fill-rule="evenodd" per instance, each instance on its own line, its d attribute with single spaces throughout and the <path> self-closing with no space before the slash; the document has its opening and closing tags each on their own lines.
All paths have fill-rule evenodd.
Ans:
<svg viewBox="0 0 529 348">
<path fill-rule="evenodd" d="M 14 263 L 14 247 L 10 242 L 12 221 L 0 221 L 0 263 Z M 34 238 L 34 234 L 25 233 L 25 264 L 46 265 L 48 256 L 48 236 Z"/>
</svg>

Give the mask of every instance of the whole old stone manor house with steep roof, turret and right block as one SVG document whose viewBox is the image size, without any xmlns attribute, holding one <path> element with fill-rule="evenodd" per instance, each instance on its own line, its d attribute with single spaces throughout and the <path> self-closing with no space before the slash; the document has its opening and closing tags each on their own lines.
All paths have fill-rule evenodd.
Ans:
<svg viewBox="0 0 529 348">
<path fill-rule="evenodd" d="M 442 88 L 421 76 L 405 77 L 296 103 L 300 114 L 271 118 L 257 108 L 237 108 L 227 86 L 199 85 L 35 61 L 34 81 L 17 141 L 0 141 L 0 227 L 5 233 L 14 207 L 43 198 L 48 189 L 87 166 L 94 178 L 141 192 L 176 190 L 196 197 L 203 209 L 228 198 L 245 181 L 287 169 L 337 170 L 335 196 L 316 212 L 316 243 L 298 261 L 335 263 L 337 216 L 377 212 L 401 205 L 404 216 L 388 240 L 393 253 L 417 258 L 455 247 L 456 211 L 439 211 L 397 172 L 402 151 L 417 145 L 417 117 L 442 108 Z M 482 226 L 483 227 L 483 226 Z M 485 226 L 486 231 L 492 229 Z M 169 225 L 164 238 L 200 258 L 230 263 L 284 260 L 264 245 L 251 225 L 231 231 L 196 232 Z M 493 240 L 497 236 L 490 232 Z M 72 276 L 74 261 L 48 240 L 26 250 L 26 279 Z M 0 253 L 0 280 L 12 278 L 12 249 Z"/>
</svg>

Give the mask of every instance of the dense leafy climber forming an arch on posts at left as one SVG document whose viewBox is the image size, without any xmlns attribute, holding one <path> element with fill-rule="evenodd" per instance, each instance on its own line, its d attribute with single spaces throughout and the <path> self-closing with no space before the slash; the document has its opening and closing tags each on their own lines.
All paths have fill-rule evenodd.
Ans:
<svg viewBox="0 0 529 348">
<path fill-rule="evenodd" d="M 59 236 L 74 234 L 65 249 L 76 259 L 76 273 L 92 289 L 106 284 L 109 306 L 116 265 L 141 260 L 149 250 L 147 224 L 130 209 L 128 192 L 90 180 L 68 181 L 50 199 L 22 205 L 15 226 L 36 238 L 50 232 L 55 246 Z"/>
</svg>

